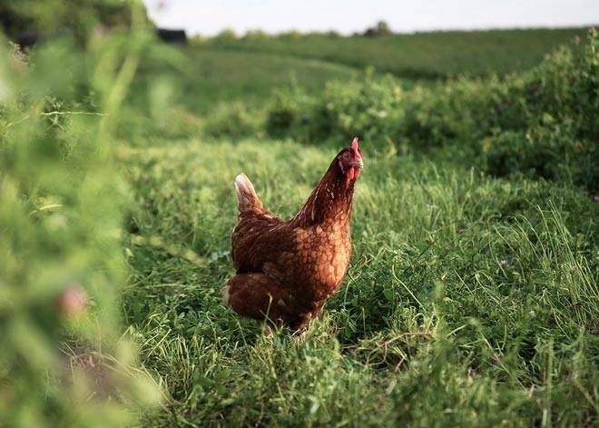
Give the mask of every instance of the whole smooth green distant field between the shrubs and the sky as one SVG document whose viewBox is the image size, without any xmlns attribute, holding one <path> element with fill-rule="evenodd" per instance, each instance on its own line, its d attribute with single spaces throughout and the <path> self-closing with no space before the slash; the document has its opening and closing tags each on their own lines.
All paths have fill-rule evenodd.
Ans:
<svg viewBox="0 0 599 428">
<path fill-rule="evenodd" d="M 426 81 L 451 75 L 506 73 L 537 65 L 558 45 L 572 44 L 586 30 L 504 30 L 394 35 L 368 38 L 300 35 L 218 41 L 174 48 L 186 58 L 185 71 L 172 73 L 147 61 L 133 90 L 140 106 L 150 105 L 143 85 L 169 79 L 172 103 L 205 114 L 232 101 L 263 105 L 272 90 L 292 83 L 316 94 L 331 80 L 349 81 L 368 67 Z M 152 91 L 150 91 L 152 93 Z M 161 93 L 162 94 L 162 93 Z"/>
</svg>

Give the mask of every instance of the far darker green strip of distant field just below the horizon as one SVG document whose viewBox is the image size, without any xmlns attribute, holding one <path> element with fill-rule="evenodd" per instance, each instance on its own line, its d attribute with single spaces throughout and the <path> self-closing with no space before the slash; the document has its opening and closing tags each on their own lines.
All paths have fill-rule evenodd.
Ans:
<svg viewBox="0 0 599 428">
<path fill-rule="evenodd" d="M 359 68 L 373 66 L 408 78 L 505 75 L 537 65 L 557 45 L 584 39 L 585 28 L 452 31 L 387 37 L 300 35 L 214 39 L 221 49 L 318 58 Z M 274 65 L 276 69 L 276 65 Z"/>
</svg>

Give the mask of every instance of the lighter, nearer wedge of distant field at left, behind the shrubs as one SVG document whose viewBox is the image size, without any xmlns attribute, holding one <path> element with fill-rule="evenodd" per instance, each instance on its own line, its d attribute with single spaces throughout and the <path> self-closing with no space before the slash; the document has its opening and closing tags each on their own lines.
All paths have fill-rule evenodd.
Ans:
<svg viewBox="0 0 599 428">
<path fill-rule="evenodd" d="M 196 113 L 204 113 L 218 103 L 239 100 L 260 103 L 270 97 L 274 88 L 293 82 L 312 93 L 322 89 L 329 80 L 347 80 L 358 74 L 348 65 L 276 53 L 194 46 L 183 49 L 182 53 L 189 61 L 186 71 L 176 75 L 178 78 L 170 76 L 175 87 L 174 96 Z M 145 64 L 137 85 L 153 84 L 153 79 L 163 76 L 164 72 L 163 65 Z M 142 103 L 145 102 L 142 99 Z"/>
</svg>

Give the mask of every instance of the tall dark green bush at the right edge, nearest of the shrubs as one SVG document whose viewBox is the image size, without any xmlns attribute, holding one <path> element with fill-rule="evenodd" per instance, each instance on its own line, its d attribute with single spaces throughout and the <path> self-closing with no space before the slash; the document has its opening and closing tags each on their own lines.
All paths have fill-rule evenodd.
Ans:
<svg viewBox="0 0 599 428">
<path fill-rule="evenodd" d="M 579 50 L 562 48 L 506 82 L 492 104 L 496 124 L 479 133 L 495 132 L 482 144 L 489 174 L 533 174 L 599 190 L 597 45 L 592 31 Z"/>
</svg>

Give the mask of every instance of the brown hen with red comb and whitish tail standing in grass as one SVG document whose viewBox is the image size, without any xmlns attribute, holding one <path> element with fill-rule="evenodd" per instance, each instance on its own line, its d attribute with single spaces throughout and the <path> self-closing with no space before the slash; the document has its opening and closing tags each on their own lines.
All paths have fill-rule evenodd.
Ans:
<svg viewBox="0 0 599 428">
<path fill-rule="evenodd" d="M 231 237 L 237 274 L 224 288 L 225 304 L 242 316 L 293 330 L 322 314 L 348 271 L 351 204 L 362 167 L 354 138 L 286 221 L 270 214 L 248 177 L 238 175 L 239 221 Z"/>
</svg>

